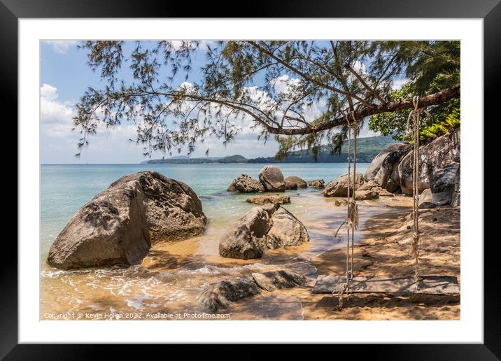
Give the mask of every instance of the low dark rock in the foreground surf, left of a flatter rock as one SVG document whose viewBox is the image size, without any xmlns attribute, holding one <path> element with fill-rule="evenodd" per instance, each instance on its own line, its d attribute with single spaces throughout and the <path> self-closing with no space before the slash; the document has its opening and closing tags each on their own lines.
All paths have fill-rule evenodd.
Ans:
<svg viewBox="0 0 501 361">
<path fill-rule="evenodd" d="M 253 278 L 230 278 L 211 283 L 200 293 L 198 302 L 209 311 L 218 311 L 227 308 L 232 302 L 260 293 Z"/>
</svg>

